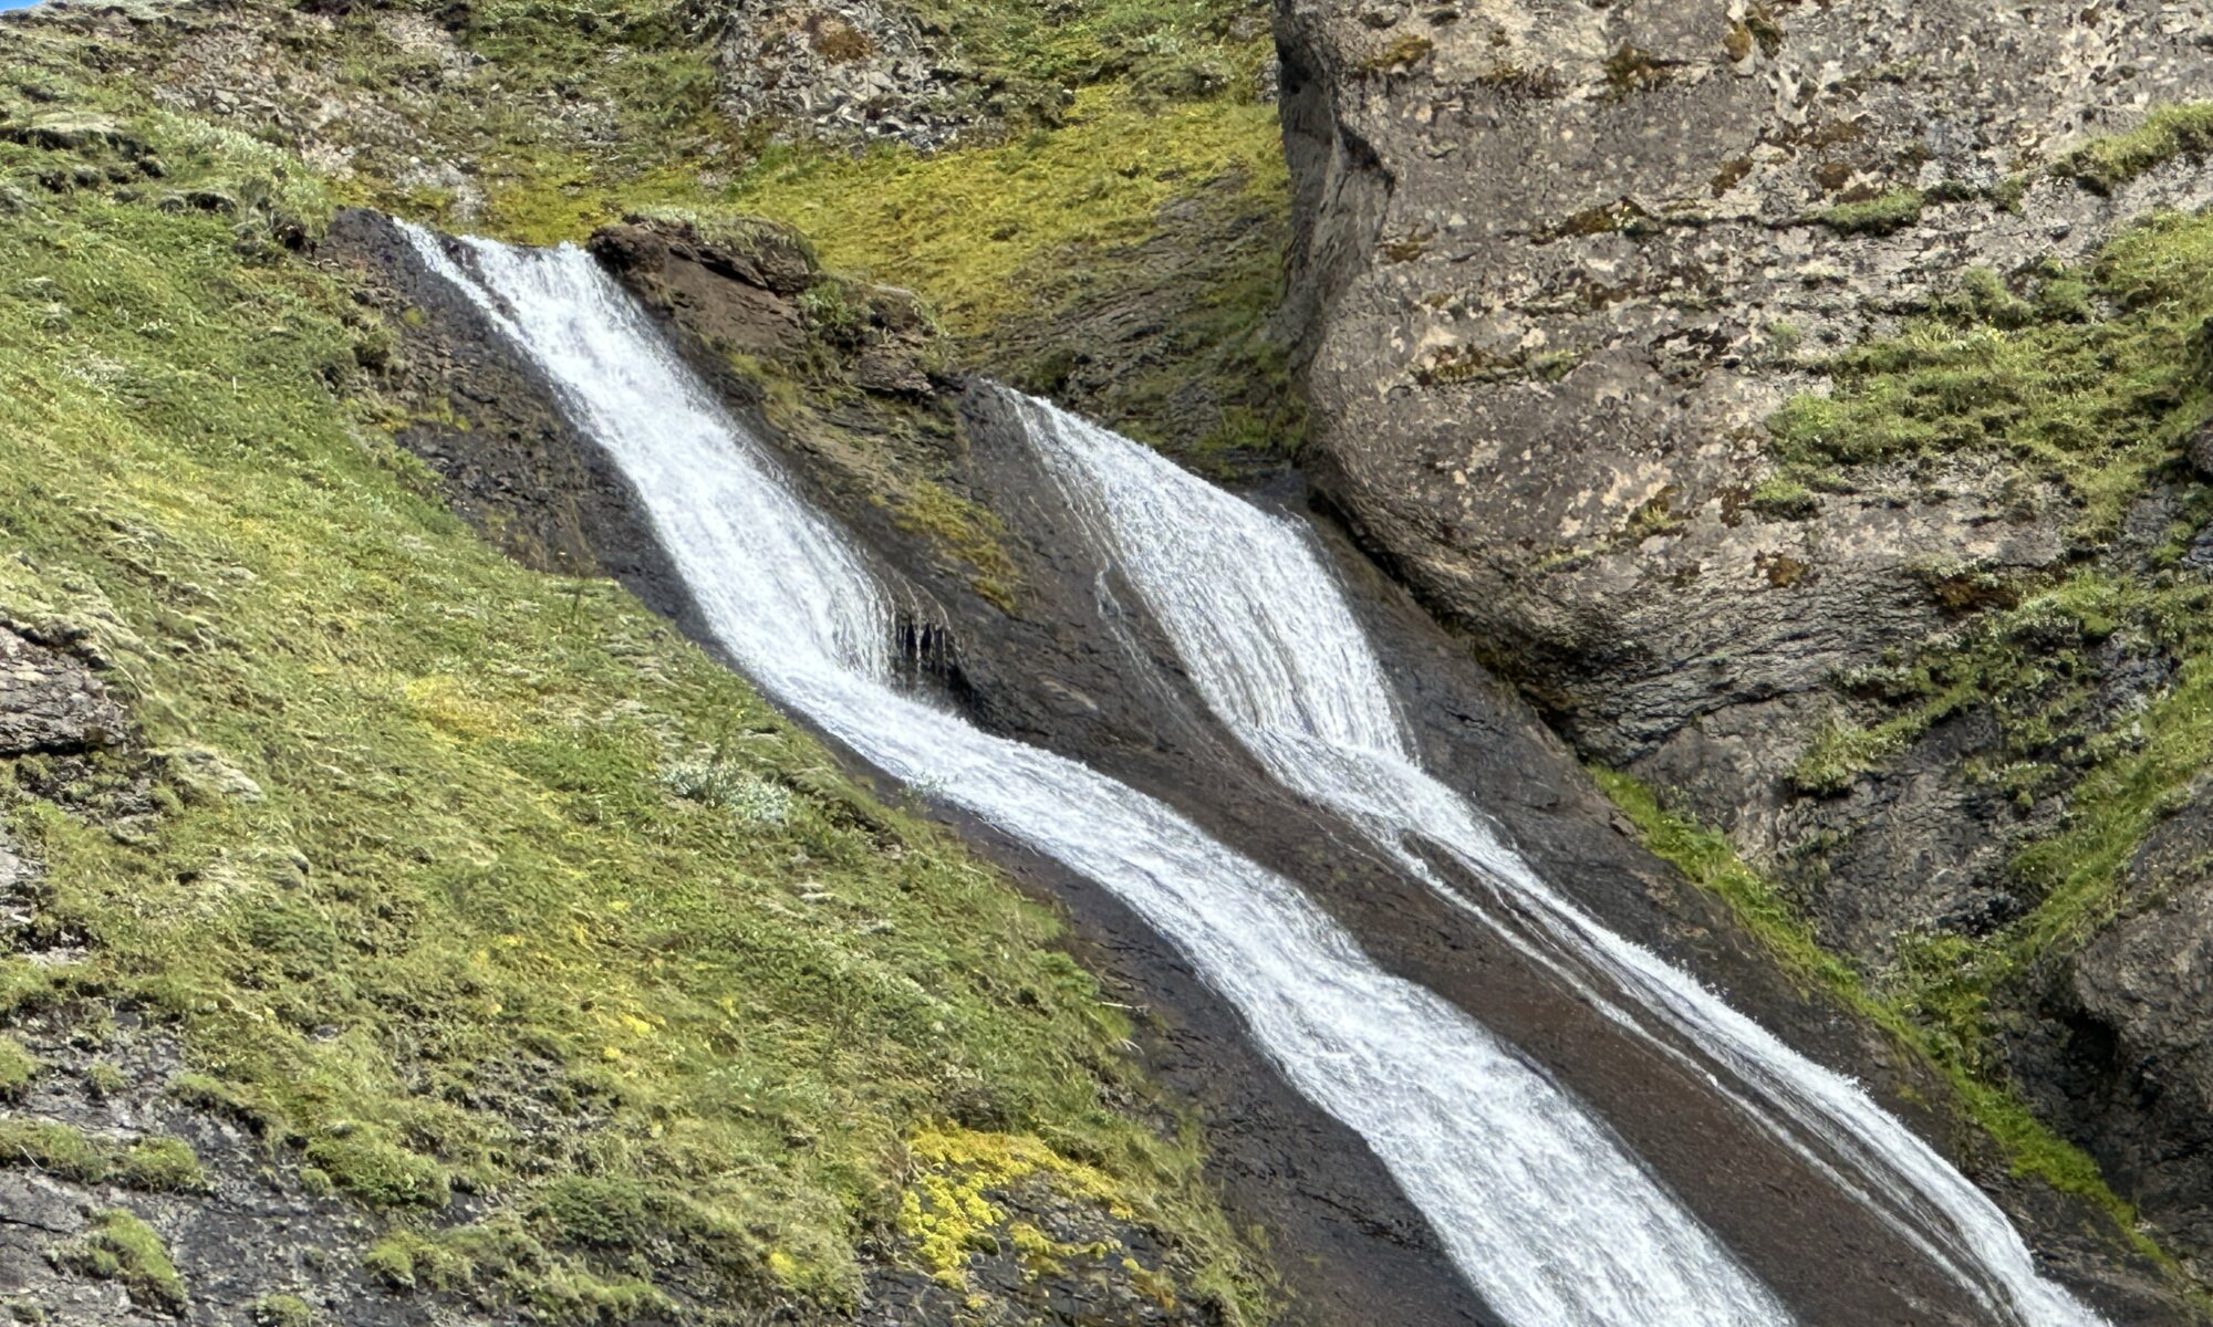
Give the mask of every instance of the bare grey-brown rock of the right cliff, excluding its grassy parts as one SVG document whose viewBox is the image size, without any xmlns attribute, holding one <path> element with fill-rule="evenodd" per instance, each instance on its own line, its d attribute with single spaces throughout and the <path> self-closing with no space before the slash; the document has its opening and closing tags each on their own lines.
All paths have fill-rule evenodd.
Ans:
<svg viewBox="0 0 2213 1327">
<path fill-rule="evenodd" d="M 1762 422 L 1965 268 L 2202 206 L 2043 173 L 2213 75 L 2202 4 L 1288 0 L 1323 493 L 1593 756 L 1759 818 L 1826 679 L 1928 633 L 1930 564 L 2040 568 L 1972 460 L 1757 500 Z M 1773 843 L 1757 827 L 1750 843 Z"/>
</svg>

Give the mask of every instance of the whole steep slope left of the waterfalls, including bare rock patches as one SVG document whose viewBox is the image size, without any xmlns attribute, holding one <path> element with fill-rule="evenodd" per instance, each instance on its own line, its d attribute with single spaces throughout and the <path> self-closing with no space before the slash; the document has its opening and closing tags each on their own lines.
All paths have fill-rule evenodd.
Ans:
<svg viewBox="0 0 2213 1327">
<path fill-rule="evenodd" d="M 316 144 L 139 100 L 239 18 L 0 55 L 13 1307 L 1259 1314 L 1047 911 L 443 509 Z"/>
</svg>

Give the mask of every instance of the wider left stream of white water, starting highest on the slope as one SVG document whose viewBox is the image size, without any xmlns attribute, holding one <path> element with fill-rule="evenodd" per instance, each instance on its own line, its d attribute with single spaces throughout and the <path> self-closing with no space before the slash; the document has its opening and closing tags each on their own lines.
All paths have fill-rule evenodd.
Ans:
<svg viewBox="0 0 2213 1327">
<path fill-rule="evenodd" d="M 1297 887 L 1162 803 L 887 686 L 890 602 L 620 288 L 578 250 L 429 232 L 416 252 L 562 389 L 637 489 L 708 628 L 887 774 L 1098 880 L 1348 1124 L 1516 1327 L 1773 1327 L 1788 1312 L 1542 1070 L 1390 978 Z"/>
</svg>

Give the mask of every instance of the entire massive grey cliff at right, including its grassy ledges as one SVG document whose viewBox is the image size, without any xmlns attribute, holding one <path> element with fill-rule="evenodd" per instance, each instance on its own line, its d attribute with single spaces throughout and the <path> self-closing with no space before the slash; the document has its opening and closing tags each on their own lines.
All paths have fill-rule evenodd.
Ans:
<svg viewBox="0 0 2213 1327">
<path fill-rule="evenodd" d="M 2147 838 L 2213 754 L 2162 626 L 2206 7 L 1286 0 L 1279 44 L 1323 498 L 2213 1247 L 2204 836 Z"/>
</svg>

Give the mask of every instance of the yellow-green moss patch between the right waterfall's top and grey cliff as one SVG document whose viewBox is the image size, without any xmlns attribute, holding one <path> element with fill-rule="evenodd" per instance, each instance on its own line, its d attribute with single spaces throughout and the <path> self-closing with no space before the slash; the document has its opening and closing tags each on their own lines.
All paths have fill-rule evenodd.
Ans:
<svg viewBox="0 0 2213 1327">
<path fill-rule="evenodd" d="M 777 148 L 733 206 L 790 221 L 832 268 L 916 290 L 963 358 L 1033 391 L 1060 394 L 1102 349 L 1087 310 L 1155 305 L 1171 330 L 1084 405 L 1226 467 L 1281 458 L 1303 436 L 1288 347 L 1268 325 L 1288 199 L 1272 106 L 1157 104 L 1100 84 L 1056 128 L 1002 144 Z"/>
</svg>

